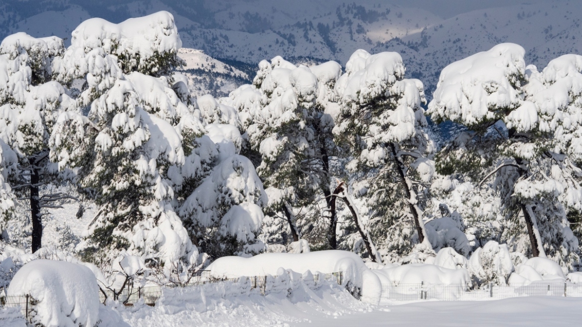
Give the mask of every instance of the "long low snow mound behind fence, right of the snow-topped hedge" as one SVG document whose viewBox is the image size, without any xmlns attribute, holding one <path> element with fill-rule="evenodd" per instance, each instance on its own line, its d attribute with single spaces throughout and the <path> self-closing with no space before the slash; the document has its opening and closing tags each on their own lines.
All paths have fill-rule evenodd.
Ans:
<svg viewBox="0 0 582 327">
<path fill-rule="evenodd" d="M 445 284 L 471 286 L 469 271 L 464 268 L 448 269 L 431 264 L 407 264 L 384 269 L 374 269 L 372 272 L 382 275 L 383 284 Z"/>
</svg>

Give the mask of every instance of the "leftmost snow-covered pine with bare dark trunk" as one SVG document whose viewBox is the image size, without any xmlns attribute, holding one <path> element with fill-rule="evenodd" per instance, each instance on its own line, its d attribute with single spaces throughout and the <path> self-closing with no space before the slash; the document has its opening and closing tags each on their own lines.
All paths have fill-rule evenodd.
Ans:
<svg viewBox="0 0 582 327">
<path fill-rule="evenodd" d="M 17 196 L 29 202 L 33 252 L 42 246 L 42 210 L 57 208 L 57 201 L 70 197 L 41 192 L 44 184 L 58 177 L 48 159 L 49 135 L 56 117 L 76 108 L 68 91 L 51 81 L 51 64 L 62 52 L 63 41 L 57 37 L 16 33 L 0 44 L 4 76 L 0 85 L 0 137 L 18 157 L 16 172 L 9 180 Z"/>
</svg>

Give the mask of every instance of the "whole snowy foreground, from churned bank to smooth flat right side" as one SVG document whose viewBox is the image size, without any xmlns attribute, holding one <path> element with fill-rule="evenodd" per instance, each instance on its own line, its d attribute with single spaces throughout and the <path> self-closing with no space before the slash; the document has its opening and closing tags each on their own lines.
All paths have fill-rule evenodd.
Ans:
<svg viewBox="0 0 582 327">
<path fill-rule="evenodd" d="M 207 307 L 201 311 L 200 307 Z M 418 301 L 367 305 L 346 292 L 323 292 L 309 301 L 278 296 L 119 308 L 138 326 L 573 326 L 582 298 L 519 297 L 494 301 Z M 102 312 L 105 313 L 105 310 Z M 112 311 L 109 311 L 112 312 Z M 120 321 L 111 326 L 126 326 Z"/>
</svg>

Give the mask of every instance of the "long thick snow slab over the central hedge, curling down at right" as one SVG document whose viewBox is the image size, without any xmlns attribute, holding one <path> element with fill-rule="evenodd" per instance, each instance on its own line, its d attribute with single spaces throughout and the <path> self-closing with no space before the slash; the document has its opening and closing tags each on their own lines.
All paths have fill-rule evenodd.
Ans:
<svg viewBox="0 0 582 327">
<path fill-rule="evenodd" d="M 342 272 L 342 285 L 361 290 L 361 300 L 378 303 L 382 287 L 376 276 L 361 258 L 340 250 L 309 253 L 264 253 L 251 258 L 222 257 L 212 262 L 208 270 L 215 278 L 278 275 L 279 268 L 294 272 Z"/>
</svg>

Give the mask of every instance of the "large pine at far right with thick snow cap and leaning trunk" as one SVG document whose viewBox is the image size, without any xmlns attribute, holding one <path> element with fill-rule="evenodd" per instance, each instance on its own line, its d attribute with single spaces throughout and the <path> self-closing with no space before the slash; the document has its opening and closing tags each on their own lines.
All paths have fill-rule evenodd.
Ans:
<svg viewBox="0 0 582 327">
<path fill-rule="evenodd" d="M 570 55 L 538 73 L 535 66 L 526 67 L 524 54 L 519 45 L 499 44 L 443 69 L 429 111 L 437 120 L 453 120 L 469 130 L 437 156 L 437 169 L 445 175 L 463 173 L 478 187 L 495 177 L 489 187 L 515 222 L 503 238 L 516 236 L 514 250 L 548 255 L 572 269 L 579 261 L 578 241 L 560 198 L 572 208 L 580 205 L 580 186 L 573 178 L 580 170 L 570 162 L 574 153 L 568 149 L 576 144 L 580 121 L 582 65 Z M 520 243 L 524 235 L 526 244 Z"/>
</svg>

